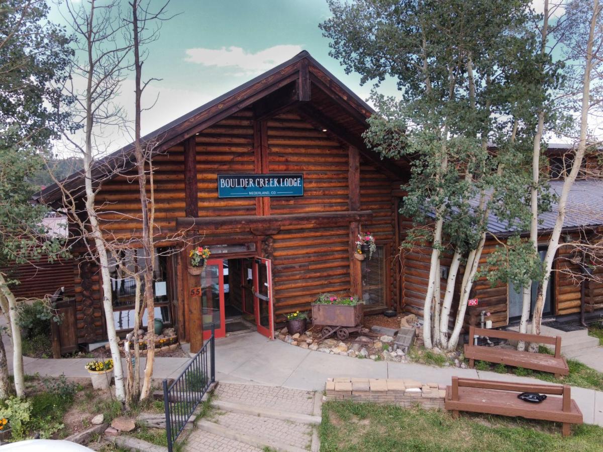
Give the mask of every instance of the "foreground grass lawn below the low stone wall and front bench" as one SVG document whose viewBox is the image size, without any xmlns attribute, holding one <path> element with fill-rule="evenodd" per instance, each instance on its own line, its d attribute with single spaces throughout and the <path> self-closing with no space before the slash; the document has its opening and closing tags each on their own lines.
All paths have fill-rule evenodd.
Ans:
<svg viewBox="0 0 603 452">
<path fill-rule="evenodd" d="M 321 451 L 600 451 L 603 428 L 572 427 L 522 418 L 330 401 L 323 404 Z"/>
</svg>

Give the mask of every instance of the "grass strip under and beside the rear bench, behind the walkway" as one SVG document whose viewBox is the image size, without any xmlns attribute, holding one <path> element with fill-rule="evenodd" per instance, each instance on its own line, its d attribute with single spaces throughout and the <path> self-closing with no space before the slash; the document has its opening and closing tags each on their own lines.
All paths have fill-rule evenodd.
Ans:
<svg viewBox="0 0 603 452">
<path fill-rule="evenodd" d="M 546 347 L 540 347 L 538 351 L 540 353 L 551 354 Z M 566 377 L 555 378 L 555 375 L 549 374 L 548 372 L 531 371 L 530 369 L 510 367 L 502 364 L 494 365 L 485 361 L 475 362 L 475 368 L 478 371 L 494 371 L 499 374 L 515 374 L 519 377 L 538 378 L 538 380 L 550 381 L 551 383 L 557 383 L 558 385 L 571 385 L 578 386 L 579 388 L 589 388 L 603 391 L 603 373 L 597 372 L 595 369 L 573 359 L 567 360 L 567 366 L 569 366 L 569 375 Z"/>
</svg>

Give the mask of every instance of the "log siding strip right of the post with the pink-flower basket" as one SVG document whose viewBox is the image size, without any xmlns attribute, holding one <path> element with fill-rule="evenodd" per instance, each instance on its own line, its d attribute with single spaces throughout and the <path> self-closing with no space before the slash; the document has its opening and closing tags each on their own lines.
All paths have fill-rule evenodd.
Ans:
<svg viewBox="0 0 603 452">
<path fill-rule="evenodd" d="M 397 306 L 397 273 L 396 256 L 396 215 L 397 198 L 391 195 L 391 190 L 399 188 L 399 184 L 377 171 L 373 165 L 361 159 L 360 162 L 360 210 L 371 210 L 373 218 L 361 224 L 363 232 L 373 234 L 377 245 L 384 245 L 387 262 L 385 262 L 384 290 L 387 292 L 385 302 L 388 307 Z"/>
</svg>

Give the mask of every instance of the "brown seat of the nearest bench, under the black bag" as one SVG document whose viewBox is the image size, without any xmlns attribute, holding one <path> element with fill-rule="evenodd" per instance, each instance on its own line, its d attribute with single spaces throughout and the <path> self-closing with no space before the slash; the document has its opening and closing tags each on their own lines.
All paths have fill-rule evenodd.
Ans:
<svg viewBox="0 0 603 452">
<path fill-rule="evenodd" d="M 582 412 L 574 400 L 569 412 L 563 411 L 563 398 L 548 397 L 541 403 L 529 403 L 517 398 L 517 392 L 495 389 L 458 388 L 459 400 L 452 400 L 452 386 L 446 387 L 444 407 L 447 410 L 470 411 L 502 416 L 521 416 L 543 421 L 581 424 Z"/>
</svg>

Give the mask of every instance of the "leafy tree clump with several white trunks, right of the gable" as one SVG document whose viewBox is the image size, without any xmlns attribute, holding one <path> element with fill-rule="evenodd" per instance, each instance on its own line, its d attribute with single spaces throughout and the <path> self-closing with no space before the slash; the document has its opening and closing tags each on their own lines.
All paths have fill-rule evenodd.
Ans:
<svg viewBox="0 0 603 452">
<path fill-rule="evenodd" d="M 379 114 L 370 118 L 365 142 L 385 157 L 411 162 L 402 213 L 414 218 L 432 246 L 423 310 L 426 347 L 456 347 L 489 216 L 519 229 L 528 225 L 526 137 L 534 116 L 523 99 L 542 95 L 529 83 L 538 54 L 529 3 L 332 0 L 333 17 L 321 24 L 332 39 L 331 55 L 347 72 L 361 74 L 363 83 L 376 80 L 376 87 L 393 77 L 400 90 L 399 100 L 374 90 Z M 410 234 L 407 244 L 416 236 Z M 441 300 L 444 253 L 452 254 L 452 264 Z M 459 307 L 449 335 L 461 265 Z"/>
</svg>

